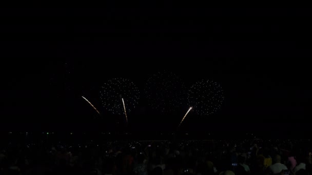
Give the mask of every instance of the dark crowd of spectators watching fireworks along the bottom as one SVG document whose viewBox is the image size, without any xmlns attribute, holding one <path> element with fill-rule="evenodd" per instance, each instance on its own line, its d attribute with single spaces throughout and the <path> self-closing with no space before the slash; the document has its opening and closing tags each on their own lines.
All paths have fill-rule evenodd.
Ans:
<svg viewBox="0 0 312 175">
<path fill-rule="evenodd" d="M 3 144 L 0 174 L 312 174 L 308 140 Z"/>
</svg>

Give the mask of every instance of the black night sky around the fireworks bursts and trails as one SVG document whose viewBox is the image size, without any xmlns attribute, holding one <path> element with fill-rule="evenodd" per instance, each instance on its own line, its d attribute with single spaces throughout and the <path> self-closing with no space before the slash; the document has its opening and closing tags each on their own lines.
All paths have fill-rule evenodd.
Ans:
<svg viewBox="0 0 312 175">
<path fill-rule="evenodd" d="M 305 130 L 310 126 L 310 9 L 2 9 L 3 129 L 118 129 L 102 119 L 99 87 L 131 79 L 143 92 L 158 71 L 190 86 L 219 82 L 214 115 L 185 130 Z M 142 96 L 129 129 L 175 130 L 187 108 L 159 115 Z M 95 118 L 95 119 L 94 119 Z M 226 122 L 227 124 L 224 124 Z M 96 127 L 91 127 L 96 126 Z M 103 126 L 103 127 L 100 127 Z"/>
</svg>

